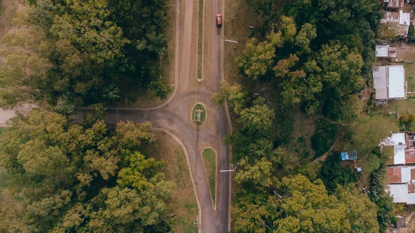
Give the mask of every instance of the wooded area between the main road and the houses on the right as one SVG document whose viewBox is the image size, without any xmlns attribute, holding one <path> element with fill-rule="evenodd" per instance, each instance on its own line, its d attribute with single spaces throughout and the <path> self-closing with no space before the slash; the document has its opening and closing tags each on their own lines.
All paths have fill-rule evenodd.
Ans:
<svg viewBox="0 0 415 233">
<path fill-rule="evenodd" d="M 280 3 L 247 0 L 261 20 L 236 58 L 241 78 L 223 81 L 212 96 L 228 102 L 236 129 L 225 139 L 237 165 L 232 232 L 385 232 L 394 205 L 378 145 L 398 127 L 371 111 L 373 99 L 364 95 L 381 6 Z M 303 136 L 295 138 L 297 115 L 315 124 L 311 151 Z M 358 151 L 365 171 L 340 165 L 340 151 L 329 153 L 333 143 Z"/>
</svg>

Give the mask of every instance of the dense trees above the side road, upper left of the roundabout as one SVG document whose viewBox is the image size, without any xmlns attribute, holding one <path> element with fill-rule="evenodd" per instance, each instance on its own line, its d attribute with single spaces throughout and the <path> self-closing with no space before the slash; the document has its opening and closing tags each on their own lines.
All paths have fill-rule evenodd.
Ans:
<svg viewBox="0 0 415 233">
<path fill-rule="evenodd" d="M 148 88 L 165 97 L 166 14 L 165 0 L 30 1 L 3 37 L 0 105 L 46 97 L 71 110 L 133 100 Z"/>
</svg>

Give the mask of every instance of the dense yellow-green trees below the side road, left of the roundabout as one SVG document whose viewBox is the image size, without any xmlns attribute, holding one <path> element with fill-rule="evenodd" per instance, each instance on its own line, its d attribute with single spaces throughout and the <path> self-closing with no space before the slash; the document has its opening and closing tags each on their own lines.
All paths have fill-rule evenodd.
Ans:
<svg viewBox="0 0 415 233">
<path fill-rule="evenodd" d="M 149 122 L 110 131 L 89 115 L 69 124 L 34 110 L 1 134 L 1 232 L 169 232 L 174 183 L 140 145 Z"/>
</svg>

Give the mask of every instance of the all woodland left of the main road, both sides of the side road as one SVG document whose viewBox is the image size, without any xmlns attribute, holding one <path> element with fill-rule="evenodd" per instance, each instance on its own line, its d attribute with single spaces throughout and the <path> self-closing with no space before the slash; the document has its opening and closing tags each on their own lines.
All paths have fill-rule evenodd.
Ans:
<svg viewBox="0 0 415 233">
<path fill-rule="evenodd" d="M 169 93 L 167 1 L 20 3 L 2 39 L 0 106 L 39 108 L 0 131 L 0 232 L 172 232 L 175 183 L 148 155 L 151 123 L 104 122 L 111 104 Z M 95 110 L 75 123 L 85 106 Z"/>
</svg>

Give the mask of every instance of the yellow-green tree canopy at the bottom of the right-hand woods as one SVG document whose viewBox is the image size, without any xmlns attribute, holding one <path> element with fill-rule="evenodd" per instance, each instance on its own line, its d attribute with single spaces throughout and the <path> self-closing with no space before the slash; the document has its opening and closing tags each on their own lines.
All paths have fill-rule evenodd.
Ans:
<svg viewBox="0 0 415 233">
<path fill-rule="evenodd" d="M 256 185 L 234 208 L 234 232 L 379 232 L 376 205 L 351 187 L 328 195 L 321 180 L 302 175 Z"/>
</svg>

